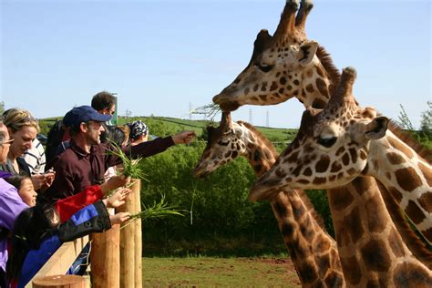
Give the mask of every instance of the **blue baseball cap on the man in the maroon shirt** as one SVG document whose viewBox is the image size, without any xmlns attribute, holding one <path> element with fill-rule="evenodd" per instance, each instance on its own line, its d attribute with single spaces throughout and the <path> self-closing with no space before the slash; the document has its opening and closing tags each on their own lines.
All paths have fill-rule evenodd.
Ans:
<svg viewBox="0 0 432 288">
<path fill-rule="evenodd" d="M 97 121 L 97 122 L 107 122 L 111 119 L 111 115 L 100 114 L 97 110 L 91 106 L 79 106 L 72 108 L 66 113 L 63 118 L 63 124 L 69 128 L 77 128 L 82 122 L 87 121 Z"/>
</svg>

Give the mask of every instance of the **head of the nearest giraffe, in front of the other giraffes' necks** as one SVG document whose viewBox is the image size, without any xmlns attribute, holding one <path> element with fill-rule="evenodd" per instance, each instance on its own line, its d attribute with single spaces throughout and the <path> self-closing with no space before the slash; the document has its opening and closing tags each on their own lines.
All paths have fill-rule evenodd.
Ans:
<svg viewBox="0 0 432 288">
<path fill-rule="evenodd" d="M 367 170 L 370 141 L 386 135 L 389 120 L 359 108 L 352 95 L 355 70 L 344 69 L 324 110 L 307 108 L 293 143 L 252 188 L 259 200 L 273 189 L 331 189 Z"/>
</svg>

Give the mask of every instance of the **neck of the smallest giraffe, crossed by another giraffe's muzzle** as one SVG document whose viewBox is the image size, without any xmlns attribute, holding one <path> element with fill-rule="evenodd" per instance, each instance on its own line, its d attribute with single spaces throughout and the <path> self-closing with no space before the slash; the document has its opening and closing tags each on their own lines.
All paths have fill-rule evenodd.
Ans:
<svg viewBox="0 0 432 288">
<path fill-rule="evenodd" d="M 272 144 L 261 140 L 252 130 L 243 135 L 249 139 L 245 141 L 247 153 L 243 156 L 260 176 L 275 162 L 275 149 L 269 148 Z M 279 192 L 270 203 L 303 286 L 345 287 L 336 242 L 316 221 L 303 190 Z"/>
</svg>

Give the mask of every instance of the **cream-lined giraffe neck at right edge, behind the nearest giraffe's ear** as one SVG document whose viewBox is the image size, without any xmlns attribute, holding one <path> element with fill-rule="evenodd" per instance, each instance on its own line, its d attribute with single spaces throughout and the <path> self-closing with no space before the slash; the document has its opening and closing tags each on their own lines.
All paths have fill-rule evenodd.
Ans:
<svg viewBox="0 0 432 288">
<path fill-rule="evenodd" d="M 432 168 L 391 131 L 371 141 L 366 175 L 386 187 L 417 230 L 432 243 Z"/>
</svg>

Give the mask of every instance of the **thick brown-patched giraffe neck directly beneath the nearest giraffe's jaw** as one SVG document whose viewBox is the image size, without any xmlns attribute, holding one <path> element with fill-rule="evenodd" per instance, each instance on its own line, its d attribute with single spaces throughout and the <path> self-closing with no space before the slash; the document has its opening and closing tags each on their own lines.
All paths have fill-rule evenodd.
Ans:
<svg viewBox="0 0 432 288">
<path fill-rule="evenodd" d="M 327 194 L 347 285 L 432 283 L 431 271 L 412 255 L 396 231 L 373 179 L 359 177 Z"/>
</svg>

